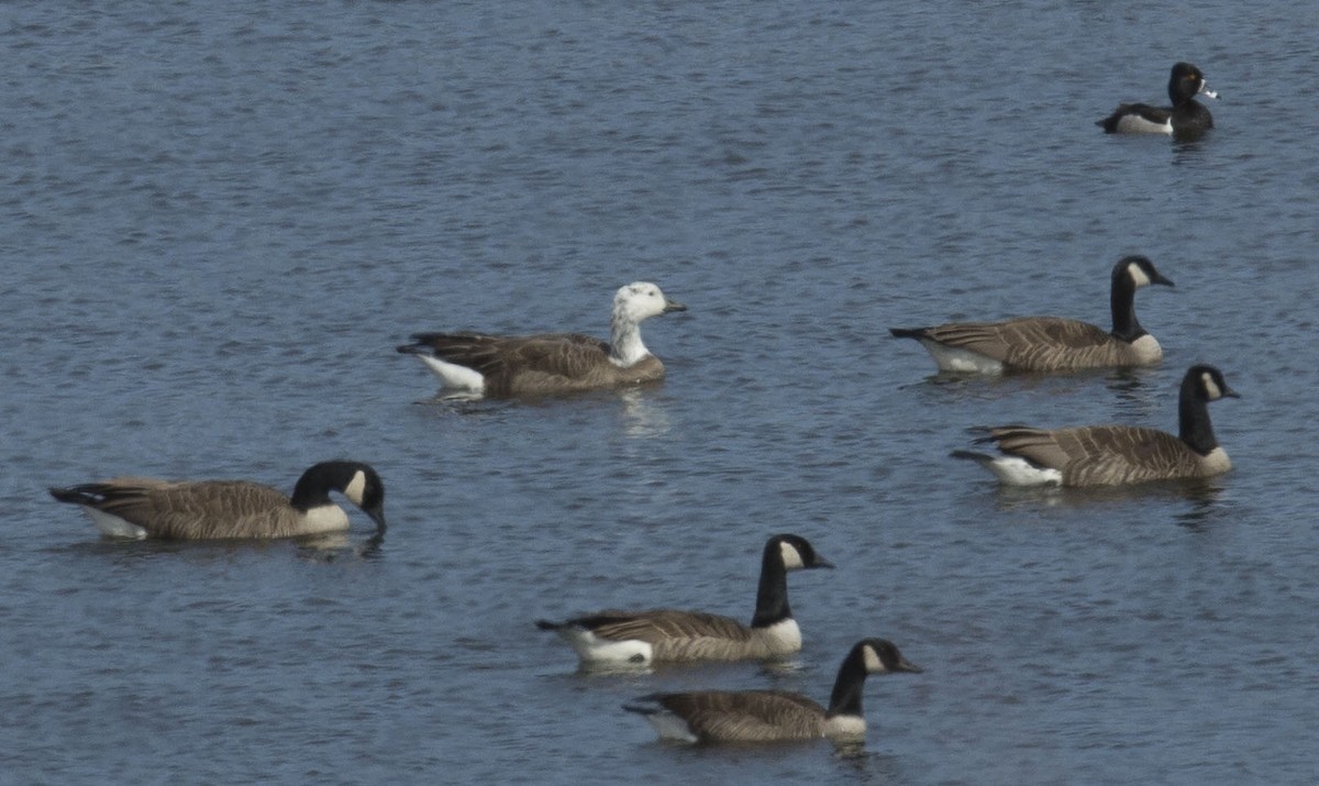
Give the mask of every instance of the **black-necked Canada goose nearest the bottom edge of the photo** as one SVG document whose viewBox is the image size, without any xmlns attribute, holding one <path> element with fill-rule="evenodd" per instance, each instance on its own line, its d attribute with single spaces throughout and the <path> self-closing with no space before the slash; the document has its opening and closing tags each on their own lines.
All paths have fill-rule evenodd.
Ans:
<svg viewBox="0 0 1319 786">
<path fill-rule="evenodd" d="M 787 691 L 650 694 L 623 708 L 650 721 L 660 737 L 683 742 L 772 742 L 865 736 L 861 688 L 867 674 L 913 671 L 893 642 L 856 642 L 838 669 L 828 710 Z"/>
</svg>

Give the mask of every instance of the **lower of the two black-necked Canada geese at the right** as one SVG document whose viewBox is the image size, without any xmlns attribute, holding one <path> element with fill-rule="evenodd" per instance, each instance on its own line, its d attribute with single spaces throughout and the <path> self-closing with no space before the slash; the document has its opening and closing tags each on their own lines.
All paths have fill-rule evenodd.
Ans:
<svg viewBox="0 0 1319 786">
<path fill-rule="evenodd" d="M 1138 426 L 1076 429 L 991 429 L 977 442 L 997 443 L 1004 455 L 955 451 L 979 462 L 1006 485 L 1122 485 L 1148 480 L 1210 477 L 1232 468 L 1210 423 L 1211 401 L 1237 398 L 1212 365 L 1192 365 L 1182 377 L 1178 437 Z"/>
</svg>

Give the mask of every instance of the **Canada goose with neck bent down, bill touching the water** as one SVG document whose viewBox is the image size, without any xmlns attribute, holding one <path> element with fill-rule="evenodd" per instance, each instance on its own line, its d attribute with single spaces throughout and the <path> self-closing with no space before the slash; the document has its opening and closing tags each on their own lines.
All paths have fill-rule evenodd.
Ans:
<svg viewBox="0 0 1319 786">
<path fill-rule="evenodd" d="M 348 516 L 330 500 L 340 492 L 385 531 L 385 487 L 369 466 L 322 462 L 302 473 L 293 499 L 248 480 L 116 477 L 51 488 L 61 502 L 80 505 L 102 533 L 120 538 L 204 541 L 288 538 L 348 529 Z"/>
</svg>

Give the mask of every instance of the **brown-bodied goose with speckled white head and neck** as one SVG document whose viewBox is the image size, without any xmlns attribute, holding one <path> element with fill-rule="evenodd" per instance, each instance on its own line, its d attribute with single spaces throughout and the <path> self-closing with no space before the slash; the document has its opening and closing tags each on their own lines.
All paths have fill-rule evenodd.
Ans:
<svg viewBox="0 0 1319 786">
<path fill-rule="evenodd" d="M 620 287 L 613 297 L 609 343 L 578 334 L 488 336 L 422 332 L 398 347 L 415 355 L 459 396 L 528 396 L 634 385 L 663 378 L 663 363 L 641 343 L 640 324 L 686 311 L 654 284 Z"/>
</svg>

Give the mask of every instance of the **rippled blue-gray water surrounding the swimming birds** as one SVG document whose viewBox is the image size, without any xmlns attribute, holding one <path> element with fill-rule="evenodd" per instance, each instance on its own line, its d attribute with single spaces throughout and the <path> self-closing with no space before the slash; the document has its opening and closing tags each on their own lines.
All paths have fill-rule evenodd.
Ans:
<svg viewBox="0 0 1319 786">
<path fill-rule="evenodd" d="M 1310 782 L 1319 773 L 1319 127 L 1304 7 L 9 3 L 0 9 L 0 781 Z M 249 8 L 249 9 L 248 9 Z M 1198 144 L 1105 137 L 1198 63 Z M 1162 367 L 944 381 L 893 324 L 1107 320 Z M 603 335 L 656 388 L 451 405 L 418 330 Z M 973 426 L 1175 429 L 1207 492 L 1004 493 Z M 102 541 L 47 485 L 383 473 L 347 546 Z M 749 617 L 806 646 L 583 677 L 537 617 Z M 686 749 L 620 704 L 802 690 L 884 636 L 864 754 Z"/>
</svg>

